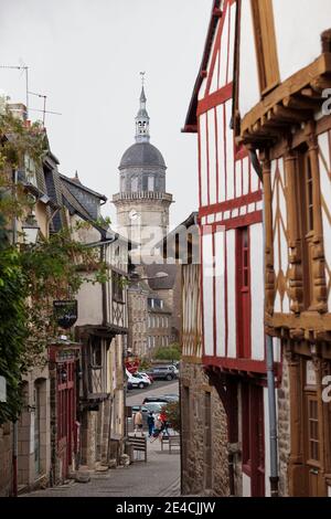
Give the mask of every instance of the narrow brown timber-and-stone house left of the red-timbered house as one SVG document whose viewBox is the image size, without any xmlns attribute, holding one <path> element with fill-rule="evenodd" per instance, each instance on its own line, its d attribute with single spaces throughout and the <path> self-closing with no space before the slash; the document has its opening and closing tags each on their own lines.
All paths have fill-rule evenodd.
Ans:
<svg viewBox="0 0 331 519">
<path fill-rule="evenodd" d="M 184 495 L 227 495 L 224 406 L 202 361 L 200 227 L 194 212 L 163 240 L 163 257 L 181 273 L 181 487 Z"/>
</svg>

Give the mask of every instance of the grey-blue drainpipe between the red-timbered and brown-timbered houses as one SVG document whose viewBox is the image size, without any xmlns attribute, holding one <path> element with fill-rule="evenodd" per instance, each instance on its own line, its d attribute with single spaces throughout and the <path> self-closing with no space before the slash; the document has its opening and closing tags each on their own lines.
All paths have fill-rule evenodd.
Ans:
<svg viewBox="0 0 331 519">
<path fill-rule="evenodd" d="M 263 182 L 263 169 L 255 149 L 249 150 L 252 165 Z M 264 272 L 265 272 L 265 201 L 263 202 L 263 240 L 264 240 Z M 270 448 L 270 494 L 271 497 L 278 497 L 278 438 L 277 438 L 277 414 L 275 396 L 275 371 L 274 371 L 274 341 L 273 337 L 266 335 L 266 361 L 267 361 L 267 383 L 268 383 L 268 413 L 269 413 L 269 448 Z"/>
</svg>

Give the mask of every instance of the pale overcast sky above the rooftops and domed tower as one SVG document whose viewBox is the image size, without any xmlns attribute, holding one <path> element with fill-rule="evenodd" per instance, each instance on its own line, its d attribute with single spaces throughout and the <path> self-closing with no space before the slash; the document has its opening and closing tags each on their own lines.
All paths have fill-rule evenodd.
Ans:
<svg viewBox="0 0 331 519">
<path fill-rule="evenodd" d="M 151 144 L 168 166 L 172 225 L 197 206 L 196 136 L 181 134 L 199 71 L 212 0 L 1 0 L 0 64 L 29 66 L 29 89 L 47 95 L 51 149 L 60 171 L 107 195 L 134 144 L 146 71 Z M 25 78 L 0 70 L 0 89 L 25 100 Z M 30 96 L 30 107 L 42 99 Z M 34 119 L 40 114 L 30 113 Z"/>
</svg>

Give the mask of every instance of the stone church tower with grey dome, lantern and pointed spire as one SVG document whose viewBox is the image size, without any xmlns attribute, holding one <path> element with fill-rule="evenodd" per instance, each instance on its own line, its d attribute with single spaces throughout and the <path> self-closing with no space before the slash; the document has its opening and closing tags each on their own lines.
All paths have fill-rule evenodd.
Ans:
<svg viewBox="0 0 331 519">
<path fill-rule="evenodd" d="M 166 192 L 164 159 L 150 144 L 146 100 L 142 74 L 136 142 L 120 160 L 119 192 L 113 197 L 119 232 L 139 245 L 157 243 L 167 234 L 172 203 L 172 194 Z"/>
</svg>

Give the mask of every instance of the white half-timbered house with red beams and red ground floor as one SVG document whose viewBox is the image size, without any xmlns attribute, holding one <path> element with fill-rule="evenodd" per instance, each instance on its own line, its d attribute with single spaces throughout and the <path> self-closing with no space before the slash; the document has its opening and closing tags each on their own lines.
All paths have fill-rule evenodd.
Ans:
<svg viewBox="0 0 331 519">
<path fill-rule="evenodd" d="M 265 496 L 270 488 L 263 193 L 233 129 L 233 95 L 245 92 L 248 81 L 234 76 L 239 8 L 235 0 L 213 1 L 183 131 L 197 134 L 202 362 L 226 411 L 227 494 Z"/>
</svg>

